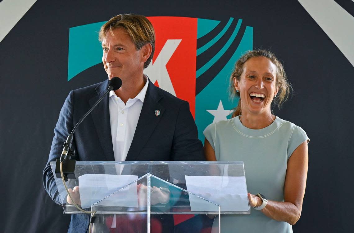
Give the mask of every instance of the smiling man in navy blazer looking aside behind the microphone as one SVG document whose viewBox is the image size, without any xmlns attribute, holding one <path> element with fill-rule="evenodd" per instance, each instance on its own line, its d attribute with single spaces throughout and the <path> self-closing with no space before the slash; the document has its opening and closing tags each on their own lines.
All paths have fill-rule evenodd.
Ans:
<svg viewBox="0 0 354 233">
<path fill-rule="evenodd" d="M 122 86 L 114 91 L 124 104 L 146 86 L 136 130 L 126 161 L 200 161 L 202 144 L 189 104 L 156 87 L 143 74 L 152 60 L 155 47 L 153 26 L 144 16 L 118 15 L 105 23 L 99 35 L 103 48 L 103 65 L 108 79 L 120 77 Z M 50 162 L 61 155 L 63 143 L 74 125 L 108 89 L 108 81 L 70 91 L 54 129 L 51 151 L 43 171 L 46 191 L 61 204 Z M 160 112 L 155 113 L 156 110 Z M 72 149 L 79 161 L 114 161 L 107 95 L 76 129 Z M 118 114 L 118 113 L 117 113 Z M 73 192 L 72 190 L 70 190 Z M 75 193 L 72 193 L 75 194 Z M 89 215 L 74 214 L 68 232 L 86 232 Z"/>
</svg>

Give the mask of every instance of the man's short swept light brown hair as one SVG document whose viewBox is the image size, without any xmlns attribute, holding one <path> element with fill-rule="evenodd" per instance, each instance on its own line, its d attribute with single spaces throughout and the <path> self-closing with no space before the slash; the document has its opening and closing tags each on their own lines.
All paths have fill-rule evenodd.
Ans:
<svg viewBox="0 0 354 233">
<path fill-rule="evenodd" d="M 151 22 L 145 16 L 139 14 L 118 14 L 102 25 L 98 35 L 99 41 L 103 41 L 108 30 L 113 36 L 113 30 L 118 28 L 124 28 L 127 31 L 137 50 L 140 50 L 147 43 L 151 44 L 151 55 L 144 62 L 144 69 L 147 68 L 155 52 L 155 30 Z"/>
</svg>

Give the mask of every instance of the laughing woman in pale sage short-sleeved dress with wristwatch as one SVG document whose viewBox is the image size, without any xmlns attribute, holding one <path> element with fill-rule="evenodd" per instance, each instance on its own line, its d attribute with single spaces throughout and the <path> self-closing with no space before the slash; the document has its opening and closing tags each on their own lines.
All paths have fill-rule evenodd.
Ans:
<svg viewBox="0 0 354 233">
<path fill-rule="evenodd" d="M 273 53 L 253 50 L 236 62 L 230 89 L 239 96 L 233 118 L 209 125 L 204 151 L 209 161 L 244 161 L 250 215 L 223 215 L 221 232 L 292 232 L 305 193 L 309 138 L 274 116 L 289 95 L 284 68 Z"/>
</svg>

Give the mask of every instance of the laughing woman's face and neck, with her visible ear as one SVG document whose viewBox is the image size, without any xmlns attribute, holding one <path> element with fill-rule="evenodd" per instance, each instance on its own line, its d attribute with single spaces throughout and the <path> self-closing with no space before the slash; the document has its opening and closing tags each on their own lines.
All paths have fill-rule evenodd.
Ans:
<svg viewBox="0 0 354 233">
<path fill-rule="evenodd" d="M 270 104 L 278 93 L 276 66 L 268 58 L 250 58 L 244 64 L 241 79 L 234 78 L 236 90 L 240 91 L 242 114 L 270 113 Z"/>
</svg>

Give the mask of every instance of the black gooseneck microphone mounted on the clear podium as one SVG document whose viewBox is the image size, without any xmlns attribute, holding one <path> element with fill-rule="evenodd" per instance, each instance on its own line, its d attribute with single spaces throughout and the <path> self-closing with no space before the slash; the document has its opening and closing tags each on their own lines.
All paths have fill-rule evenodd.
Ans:
<svg viewBox="0 0 354 233">
<path fill-rule="evenodd" d="M 81 122 L 91 113 L 91 111 L 97 106 L 99 102 L 110 92 L 118 90 L 122 86 L 122 79 L 118 77 L 114 77 L 108 82 L 107 91 L 99 98 L 99 100 L 92 106 L 92 108 L 82 117 L 79 122 L 74 126 L 74 129 L 69 134 L 68 138 L 64 143 L 64 148 L 60 159 L 57 159 L 55 166 L 55 174 L 57 178 L 61 178 L 60 174 L 60 163 L 63 162 L 63 174 L 64 180 L 67 181 L 69 179 L 75 179 L 75 163 L 76 160 L 71 159 L 71 157 L 75 156 L 75 150 L 71 151 L 71 144 L 74 139 L 74 132 L 77 127 L 81 124 Z M 69 156 L 68 156 L 69 155 Z M 69 157 L 69 159 L 68 159 Z"/>
</svg>

